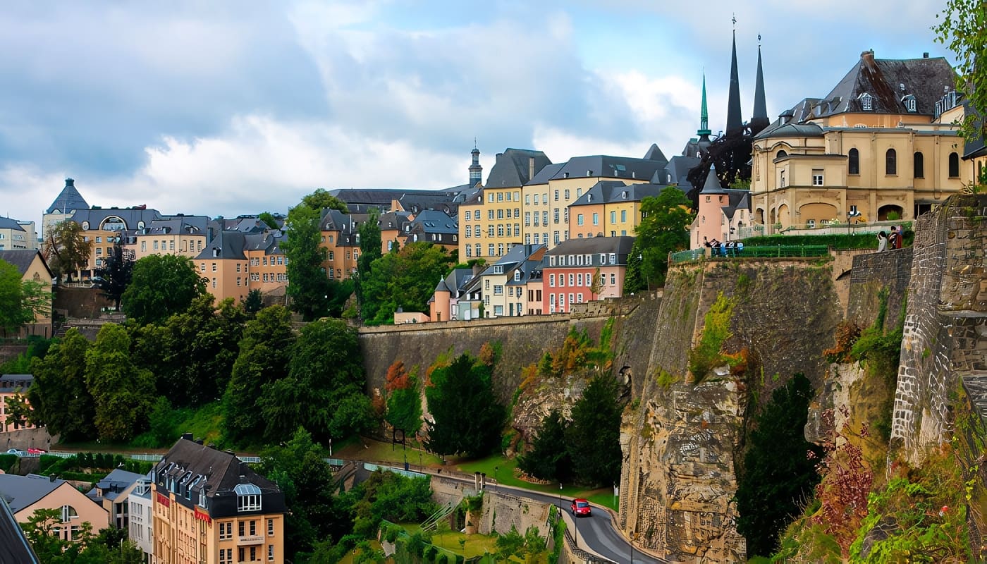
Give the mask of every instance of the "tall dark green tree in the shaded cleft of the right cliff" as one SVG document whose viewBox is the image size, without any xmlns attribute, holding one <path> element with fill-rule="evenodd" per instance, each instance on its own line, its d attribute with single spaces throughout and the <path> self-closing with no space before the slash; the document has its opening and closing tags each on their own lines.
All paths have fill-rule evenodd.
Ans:
<svg viewBox="0 0 987 564">
<path fill-rule="evenodd" d="M 751 556 L 778 549 L 779 533 L 800 514 L 798 504 L 812 497 L 819 481 L 815 464 L 822 448 L 804 435 L 813 393 L 808 378 L 796 374 L 771 394 L 748 436 L 736 500 L 737 531 L 747 539 Z"/>
</svg>

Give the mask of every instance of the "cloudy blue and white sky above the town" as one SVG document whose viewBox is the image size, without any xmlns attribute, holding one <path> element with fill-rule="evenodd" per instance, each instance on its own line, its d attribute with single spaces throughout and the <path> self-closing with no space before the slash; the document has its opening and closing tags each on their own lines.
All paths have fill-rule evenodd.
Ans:
<svg viewBox="0 0 987 564">
<path fill-rule="evenodd" d="M 758 34 L 772 119 L 862 50 L 948 56 L 943 0 L 170 0 L 0 7 L 0 215 L 40 221 L 76 179 L 94 205 L 286 211 L 316 188 L 444 188 L 506 147 L 678 154 L 705 69 L 725 122 Z M 950 58 L 951 60 L 951 58 Z"/>
</svg>

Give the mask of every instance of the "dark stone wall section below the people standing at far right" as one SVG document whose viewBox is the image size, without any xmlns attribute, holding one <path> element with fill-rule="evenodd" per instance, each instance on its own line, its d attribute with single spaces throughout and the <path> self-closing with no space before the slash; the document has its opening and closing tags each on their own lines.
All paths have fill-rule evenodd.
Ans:
<svg viewBox="0 0 987 564">
<path fill-rule="evenodd" d="M 868 253 L 854 257 L 850 274 L 850 302 L 847 320 L 860 327 L 873 325 L 878 310 L 878 295 L 887 292 L 887 314 L 883 329 L 893 330 L 898 323 L 901 307 L 908 296 L 911 282 L 913 248 Z"/>
</svg>

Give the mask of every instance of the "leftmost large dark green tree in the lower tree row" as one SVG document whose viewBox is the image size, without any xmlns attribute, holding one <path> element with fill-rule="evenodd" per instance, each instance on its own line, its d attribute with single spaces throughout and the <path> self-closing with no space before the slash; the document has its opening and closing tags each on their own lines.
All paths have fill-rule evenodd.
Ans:
<svg viewBox="0 0 987 564">
<path fill-rule="evenodd" d="M 92 439 L 95 434 L 93 396 L 86 386 L 86 353 L 90 343 L 71 328 L 44 357 L 32 359 L 35 380 L 28 389 L 34 408 L 32 423 L 47 427 L 62 441 Z"/>
</svg>

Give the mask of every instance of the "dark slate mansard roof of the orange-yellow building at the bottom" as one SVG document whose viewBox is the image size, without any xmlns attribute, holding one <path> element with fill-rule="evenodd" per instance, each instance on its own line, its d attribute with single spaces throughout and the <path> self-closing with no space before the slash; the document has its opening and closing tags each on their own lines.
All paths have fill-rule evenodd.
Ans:
<svg viewBox="0 0 987 564">
<path fill-rule="evenodd" d="M 188 436 L 187 436 L 188 437 Z M 152 470 L 152 480 L 159 493 L 175 493 L 175 501 L 186 506 L 198 506 L 204 491 L 207 503 L 202 508 L 209 517 L 285 513 L 284 494 L 276 484 L 255 472 L 234 454 L 211 446 L 180 439 Z M 253 484 L 262 496 L 261 510 L 237 512 L 234 488 Z M 188 492 L 189 498 L 186 498 Z"/>
</svg>

